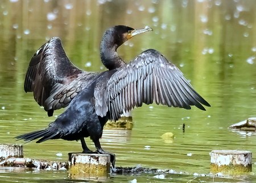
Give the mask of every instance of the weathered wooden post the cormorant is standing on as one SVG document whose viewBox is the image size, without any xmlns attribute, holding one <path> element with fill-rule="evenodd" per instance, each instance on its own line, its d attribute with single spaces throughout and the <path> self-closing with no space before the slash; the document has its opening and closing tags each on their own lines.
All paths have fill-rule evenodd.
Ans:
<svg viewBox="0 0 256 183">
<path fill-rule="evenodd" d="M 68 173 L 71 178 L 107 177 L 110 173 L 110 155 L 68 153 Z"/>
</svg>

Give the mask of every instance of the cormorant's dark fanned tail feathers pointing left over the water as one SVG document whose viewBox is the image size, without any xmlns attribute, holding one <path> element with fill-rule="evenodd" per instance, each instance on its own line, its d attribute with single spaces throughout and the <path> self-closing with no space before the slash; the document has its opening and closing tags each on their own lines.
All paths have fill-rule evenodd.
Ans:
<svg viewBox="0 0 256 183">
<path fill-rule="evenodd" d="M 38 141 L 36 141 L 36 143 L 41 143 L 49 139 L 58 139 L 59 134 L 60 132 L 58 132 L 57 130 L 45 129 L 45 130 L 39 130 L 39 131 L 34 131 L 27 134 L 19 135 L 19 136 L 16 136 L 15 138 L 17 140 L 24 140 L 26 141 L 26 143 L 40 138 Z"/>
</svg>

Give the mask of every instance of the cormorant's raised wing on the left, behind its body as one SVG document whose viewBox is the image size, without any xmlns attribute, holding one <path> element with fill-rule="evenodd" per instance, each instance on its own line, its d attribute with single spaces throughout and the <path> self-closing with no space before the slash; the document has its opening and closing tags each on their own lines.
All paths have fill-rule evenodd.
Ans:
<svg viewBox="0 0 256 183">
<path fill-rule="evenodd" d="M 66 107 L 79 93 L 88 74 L 69 61 L 61 40 L 53 37 L 32 57 L 24 90 L 34 92 L 35 101 L 52 116 L 53 110 Z"/>
</svg>

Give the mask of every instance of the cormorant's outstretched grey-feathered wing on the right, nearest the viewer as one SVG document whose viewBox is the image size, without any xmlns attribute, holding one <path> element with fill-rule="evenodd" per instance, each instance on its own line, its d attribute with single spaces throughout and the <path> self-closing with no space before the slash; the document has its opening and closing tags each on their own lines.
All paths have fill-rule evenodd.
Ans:
<svg viewBox="0 0 256 183">
<path fill-rule="evenodd" d="M 100 87 L 100 89 L 99 89 Z M 195 105 L 210 106 L 184 78 L 183 73 L 163 55 L 148 49 L 125 67 L 117 70 L 105 85 L 96 86 L 96 113 L 111 120 L 119 119 L 123 111 L 142 103 L 191 109 Z"/>
</svg>

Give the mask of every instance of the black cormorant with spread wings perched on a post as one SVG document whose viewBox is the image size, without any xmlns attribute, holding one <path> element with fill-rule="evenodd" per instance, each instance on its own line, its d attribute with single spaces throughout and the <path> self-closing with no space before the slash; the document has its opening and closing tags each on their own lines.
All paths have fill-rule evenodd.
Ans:
<svg viewBox="0 0 256 183">
<path fill-rule="evenodd" d="M 105 72 L 86 72 L 69 61 L 61 40 L 51 38 L 32 57 L 24 90 L 34 92 L 35 101 L 44 106 L 48 116 L 68 106 L 63 114 L 40 131 L 19 135 L 27 142 L 49 139 L 81 140 L 84 153 L 91 153 L 84 138 L 90 136 L 97 153 L 108 153 L 101 148 L 99 139 L 107 120 L 117 120 L 123 111 L 134 107 L 156 104 L 168 107 L 201 110 L 210 106 L 184 78 L 183 73 L 155 49 L 147 49 L 126 64 L 118 56 L 117 48 L 135 35 L 152 31 L 127 26 L 106 30 L 101 44 Z"/>
</svg>

